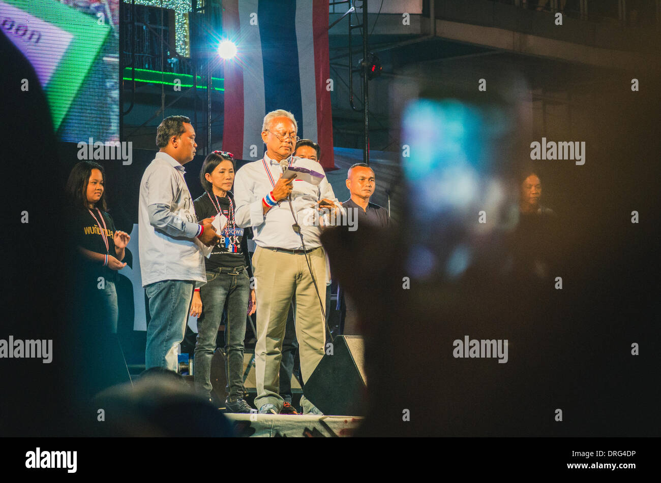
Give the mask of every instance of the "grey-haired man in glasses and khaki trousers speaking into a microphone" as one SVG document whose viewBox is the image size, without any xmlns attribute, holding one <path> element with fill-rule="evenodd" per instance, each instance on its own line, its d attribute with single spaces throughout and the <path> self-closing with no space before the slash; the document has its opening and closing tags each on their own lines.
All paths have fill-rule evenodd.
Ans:
<svg viewBox="0 0 661 483">
<path fill-rule="evenodd" d="M 311 216 L 315 210 L 334 208 L 335 195 L 319 163 L 293 156 L 296 133 L 292 113 L 276 110 L 266 114 L 264 158 L 243 166 L 234 181 L 237 224 L 253 227 L 257 245 L 253 255 L 257 298 L 254 404 L 261 414 L 297 414 L 279 394 L 282 339 L 292 298 L 303 383 L 324 355 L 326 257 L 319 224 L 310 220 L 318 220 Z M 323 179 L 319 185 L 282 179 L 281 162 L 317 172 Z M 316 410 L 305 397 L 301 405 L 305 413 Z"/>
</svg>

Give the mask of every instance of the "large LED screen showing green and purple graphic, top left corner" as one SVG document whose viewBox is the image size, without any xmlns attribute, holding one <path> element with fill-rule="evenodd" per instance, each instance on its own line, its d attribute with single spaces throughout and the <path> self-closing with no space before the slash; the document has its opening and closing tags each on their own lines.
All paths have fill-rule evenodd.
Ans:
<svg viewBox="0 0 661 483">
<path fill-rule="evenodd" d="M 0 0 L 0 26 L 32 63 L 61 141 L 119 139 L 119 0 Z"/>
</svg>

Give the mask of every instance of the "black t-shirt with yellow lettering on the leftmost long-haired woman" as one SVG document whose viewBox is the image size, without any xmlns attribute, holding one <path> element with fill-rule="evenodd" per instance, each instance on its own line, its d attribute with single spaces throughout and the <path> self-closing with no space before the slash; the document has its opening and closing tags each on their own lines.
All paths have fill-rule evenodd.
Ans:
<svg viewBox="0 0 661 483">
<path fill-rule="evenodd" d="M 75 209 L 69 212 L 69 222 L 67 226 L 69 227 L 69 235 L 73 245 L 72 249 L 77 250 L 77 246 L 80 246 L 89 251 L 102 253 L 103 255 L 108 253 L 109 255 L 116 257 L 115 243 L 112 241 L 112 237 L 115 234 L 115 224 L 112 221 L 112 218 L 108 213 L 102 210 L 97 211 L 96 209 L 93 209 L 92 212 L 94 213 L 94 216 L 97 217 L 102 228 L 103 222 L 98 216 L 99 212 L 102 214 L 103 220 L 106 222 L 105 230 L 107 230 L 106 236 L 108 237 L 108 250 L 106 251 L 106 244 L 103 242 L 96 220 L 90 214 L 89 210 L 83 209 Z M 116 270 L 112 270 L 107 266 L 104 267 L 102 263 L 97 261 L 91 261 L 81 253 L 77 253 L 76 259 L 79 261 L 79 271 L 83 272 L 81 273 L 81 276 L 85 276 L 87 280 L 91 280 L 91 283 L 95 282 L 99 276 L 112 282 L 116 280 Z"/>
</svg>

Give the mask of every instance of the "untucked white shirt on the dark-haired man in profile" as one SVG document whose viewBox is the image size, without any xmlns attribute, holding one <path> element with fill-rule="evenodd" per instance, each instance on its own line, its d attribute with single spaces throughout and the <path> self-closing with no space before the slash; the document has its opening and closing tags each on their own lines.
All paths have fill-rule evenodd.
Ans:
<svg viewBox="0 0 661 483">
<path fill-rule="evenodd" d="M 161 280 L 206 283 L 204 245 L 184 167 L 157 152 L 140 181 L 138 247 L 142 286 Z"/>
</svg>

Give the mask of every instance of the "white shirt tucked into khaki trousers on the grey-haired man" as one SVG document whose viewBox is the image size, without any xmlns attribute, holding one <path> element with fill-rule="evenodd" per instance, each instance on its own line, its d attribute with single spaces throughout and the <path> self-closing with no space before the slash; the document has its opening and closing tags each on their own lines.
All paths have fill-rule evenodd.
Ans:
<svg viewBox="0 0 661 483">
<path fill-rule="evenodd" d="M 290 160 L 291 158 L 287 158 L 287 161 Z M 273 182 L 277 183 L 278 177 L 282 174 L 280 162 L 272 160 L 268 154 L 264 154 L 264 161 L 271 172 Z M 324 179 L 318 186 L 307 183 L 307 181 L 294 180 L 292 182 L 292 208 L 298 224 L 301 226 L 305 248 L 308 250 L 317 248 L 321 246 L 321 241 L 319 241 L 321 232 L 319 226 L 315 226 L 312 222 L 314 214 L 312 205 L 323 198 L 335 199 L 335 195 L 321 164 L 313 160 L 294 157 L 292 166 L 307 168 L 324 175 Z M 292 228 L 294 218 L 288 201 L 280 201 L 280 206 L 272 207 L 264 215 L 262 198 L 272 190 L 273 185 L 266 174 L 262 160 L 246 164 L 237 171 L 234 179 L 237 225 L 242 228 L 252 226 L 253 240 L 260 247 L 303 249 L 301 238 Z"/>
</svg>

